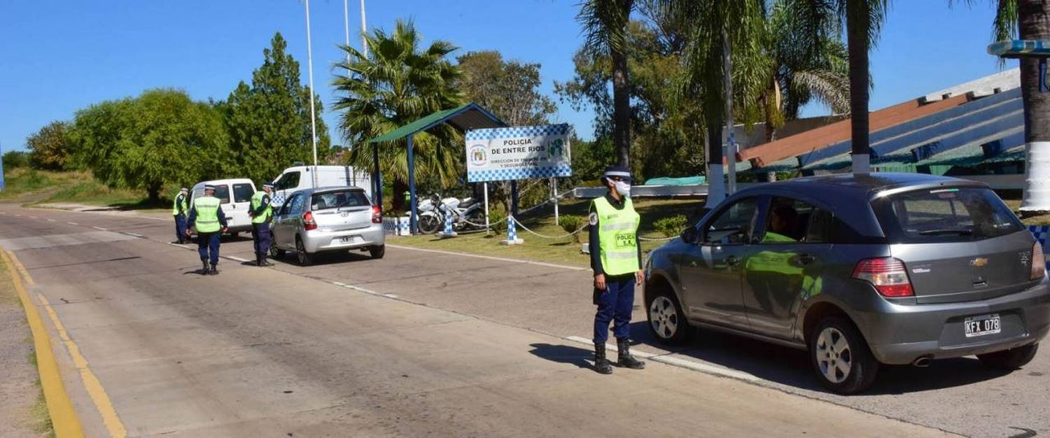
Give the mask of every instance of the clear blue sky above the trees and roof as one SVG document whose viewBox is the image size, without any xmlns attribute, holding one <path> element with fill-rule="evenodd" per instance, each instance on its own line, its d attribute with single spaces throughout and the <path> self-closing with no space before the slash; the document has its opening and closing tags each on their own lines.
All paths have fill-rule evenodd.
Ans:
<svg viewBox="0 0 1050 438">
<path fill-rule="evenodd" d="M 370 27 L 412 18 L 427 40 L 507 59 L 541 63 L 543 91 L 572 78 L 582 37 L 578 0 L 365 0 Z M 947 0 L 896 0 L 872 54 L 878 109 L 1000 70 L 986 55 L 992 1 L 972 8 Z M 960 2 L 956 2 L 960 3 Z M 332 64 L 344 40 L 341 0 L 312 0 L 314 85 L 334 100 Z M 351 44 L 360 45 L 358 0 L 350 0 Z M 108 99 L 153 87 L 185 89 L 194 99 L 225 99 L 248 82 L 275 32 L 302 64 L 307 81 L 303 3 L 297 0 L 15 1 L 0 0 L 0 149 L 22 149 L 26 135 L 52 120 Z M 1010 62 L 1007 67 L 1015 66 Z M 820 107 L 805 113 L 823 113 Z M 559 122 L 592 137 L 593 114 L 561 104 Z M 333 143 L 335 114 L 326 112 Z"/>
</svg>

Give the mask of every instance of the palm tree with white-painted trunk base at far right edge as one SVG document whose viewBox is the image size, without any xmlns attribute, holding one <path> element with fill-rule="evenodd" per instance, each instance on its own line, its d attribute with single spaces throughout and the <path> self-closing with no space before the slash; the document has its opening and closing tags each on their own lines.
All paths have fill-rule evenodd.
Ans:
<svg viewBox="0 0 1050 438">
<path fill-rule="evenodd" d="M 973 3 L 972 0 L 964 0 Z M 949 0 L 949 5 L 951 4 Z M 1018 35 L 1020 34 L 1020 35 Z M 996 0 L 992 22 L 995 41 L 1050 39 L 1050 3 L 1042 0 Z M 1040 61 L 1021 59 L 1021 99 L 1025 105 L 1025 191 L 1023 215 L 1050 212 L 1050 96 L 1040 90 Z M 1036 160 L 1033 160 L 1036 159 Z"/>
</svg>

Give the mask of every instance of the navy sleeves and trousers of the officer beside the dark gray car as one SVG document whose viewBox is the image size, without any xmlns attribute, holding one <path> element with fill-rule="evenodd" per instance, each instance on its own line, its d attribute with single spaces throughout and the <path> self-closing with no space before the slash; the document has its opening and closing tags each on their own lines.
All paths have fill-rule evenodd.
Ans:
<svg viewBox="0 0 1050 438">
<path fill-rule="evenodd" d="M 616 201 L 612 194 L 606 193 L 605 199 L 609 205 L 617 210 L 624 208 L 623 201 Z M 591 270 L 594 275 L 605 274 L 602 267 L 602 243 L 598 239 L 597 213 L 590 212 L 588 216 L 590 234 L 588 248 L 591 255 Z M 642 245 L 635 239 L 635 247 L 638 249 L 638 266 L 643 266 Z M 616 339 L 629 339 L 631 337 L 631 311 L 634 308 L 634 273 L 624 275 L 606 275 L 605 290 L 594 288 L 594 305 L 597 312 L 594 314 L 594 343 L 605 345 L 609 340 L 609 322 L 612 322 L 612 334 Z"/>
</svg>

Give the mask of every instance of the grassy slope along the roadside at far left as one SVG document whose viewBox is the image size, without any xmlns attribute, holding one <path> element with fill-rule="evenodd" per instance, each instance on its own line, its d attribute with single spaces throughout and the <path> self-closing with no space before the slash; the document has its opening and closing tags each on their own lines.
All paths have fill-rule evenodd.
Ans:
<svg viewBox="0 0 1050 438">
<path fill-rule="evenodd" d="M 150 203 L 141 190 L 112 189 L 94 181 L 89 172 L 55 172 L 18 168 L 5 173 L 6 187 L 0 201 L 23 204 L 70 203 L 125 210 L 171 208 L 171 201 L 162 192 L 160 203 Z"/>
</svg>

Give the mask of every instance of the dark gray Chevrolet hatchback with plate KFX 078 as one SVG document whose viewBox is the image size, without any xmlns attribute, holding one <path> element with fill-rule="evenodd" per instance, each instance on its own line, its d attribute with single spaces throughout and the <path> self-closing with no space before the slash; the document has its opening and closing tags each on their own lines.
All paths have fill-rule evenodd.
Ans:
<svg viewBox="0 0 1050 438">
<path fill-rule="evenodd" d="M 807 350 L 830 390 L 879 366 L 1028 363 L 1050 330 L 1043 248 L 985 185 L 911 173 L 762 184 L 646 263 L 652 334 L 694 327 Z"/>
</svg>

